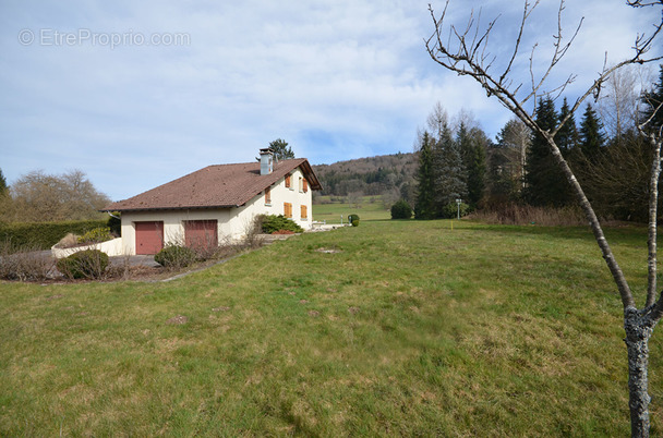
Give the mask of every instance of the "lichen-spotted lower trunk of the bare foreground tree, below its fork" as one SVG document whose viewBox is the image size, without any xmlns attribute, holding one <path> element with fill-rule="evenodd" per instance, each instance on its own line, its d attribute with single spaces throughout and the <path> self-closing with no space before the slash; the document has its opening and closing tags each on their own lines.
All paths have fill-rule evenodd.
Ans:
<svg viewBox="0 0 663 438">
<path fill-rule="evenodd" d="M 646 309 L 647 311 L 647 309 Z M 626 349 L 628 351 L 628 392 L 631 437 L 649 437 L 649 338 L 655 321 L 648 312 L 629 307 L 624 314 Z"/>
</svg>

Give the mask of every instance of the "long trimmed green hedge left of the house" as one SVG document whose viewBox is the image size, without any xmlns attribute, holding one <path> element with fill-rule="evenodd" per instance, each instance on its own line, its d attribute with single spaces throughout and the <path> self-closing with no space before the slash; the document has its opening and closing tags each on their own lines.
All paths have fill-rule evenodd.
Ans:
<svg viewBox="0 0 663 438">
<path fill-rule="evenodd" d="M 62 222 L 0 223 L 0 242 L 10 241 L 15 246 L 48 250 L 67 233 L 85 234 L 106 227 L 107 220 L 70 220 Z"/>
</svg>

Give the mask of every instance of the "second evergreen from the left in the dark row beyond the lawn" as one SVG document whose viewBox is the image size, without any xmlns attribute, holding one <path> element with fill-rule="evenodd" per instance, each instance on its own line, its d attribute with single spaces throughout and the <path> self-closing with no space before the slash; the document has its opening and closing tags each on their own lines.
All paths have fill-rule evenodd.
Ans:
<svg viewBox="0 0 663 438">
<path fill-rule="evenodd" d="M 435 204 L 437 216 L 444 216 L 444 207 L 455 204 L 456 199 L 467 198 L 467 173 L 462 166 L 460 144 L 454 141 L 447 124 L 442 130 L 433 149 L 433 168 L 435 174 Z"/>
</svg>

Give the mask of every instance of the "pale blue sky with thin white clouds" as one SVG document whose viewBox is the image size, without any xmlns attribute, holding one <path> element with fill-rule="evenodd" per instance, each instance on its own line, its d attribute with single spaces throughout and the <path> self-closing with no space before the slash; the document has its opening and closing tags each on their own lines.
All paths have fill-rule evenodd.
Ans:
<svg viewBox="0 0 663 438">
<path fill-rule="evenodd" d="M 119 200 L 209 165 L 253 161 L 276 138 L 312 165 L 409 153 L 436 102 L 451 119 L 471 113 L 494 138 L 511 114 L 430 58 L 429 2 L 444 8 L 431 0 L 0 0 L 0 170 L 9 184 L 35 170 L 82 170 Z M 534 73 L 550 62 L 558 5 L 542 0 L 525 29 L 514 68 L 523 89 L 535 41 Z M 483 26 L 499 15 L 490 40 L 499 64 L 522 8 L 451 0 L 446 20 L 462 27 L 473 11 Z M 582 17 L 550 77 L 577 74 L 569 100 L 605 59 L 631 54 L 660 11 L 568 0 L 564 35 Z"/>
</svg>

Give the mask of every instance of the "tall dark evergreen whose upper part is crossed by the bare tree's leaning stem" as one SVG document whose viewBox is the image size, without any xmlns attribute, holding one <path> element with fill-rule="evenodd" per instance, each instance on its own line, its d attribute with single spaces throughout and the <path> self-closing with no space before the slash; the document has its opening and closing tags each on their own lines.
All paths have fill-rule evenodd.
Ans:
<svg viewBox="0 0 663 438">
<path fill-rule="evenodd" d="M 550 97 L 537 106 L 537 123 L 543 130 L 553 130 L 558 123 L 555 104 Z M 570 203 L 570 187 L 555 162 L 545 138 L 535 133 L 528 153 L 525 178 L 525 199 L 534 206 L 562 207 Z"/>
</svg>

